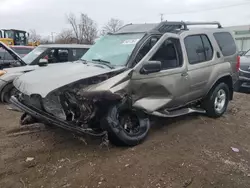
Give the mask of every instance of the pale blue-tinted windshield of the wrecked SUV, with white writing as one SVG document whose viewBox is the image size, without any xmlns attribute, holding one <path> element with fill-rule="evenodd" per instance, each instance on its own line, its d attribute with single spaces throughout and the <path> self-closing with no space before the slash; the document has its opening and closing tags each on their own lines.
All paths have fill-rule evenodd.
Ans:
<svg viewBox="0 0 250 188">
<path fill-rule="evenodd" d="M 106 35 L 95 43 L 83 56 L 82 60 L 102 60 L 110 62 L 112 66 L 125 66 L 136 43 L 144 33 Z"/>
</svg>

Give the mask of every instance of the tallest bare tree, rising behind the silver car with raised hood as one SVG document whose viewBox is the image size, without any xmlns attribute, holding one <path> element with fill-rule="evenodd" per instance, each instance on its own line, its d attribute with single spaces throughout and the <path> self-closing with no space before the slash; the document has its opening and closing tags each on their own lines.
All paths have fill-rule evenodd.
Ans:
<svg viewBox="0 0 250 188">
<path fill-rule="evenodd" d="M 97 37 L 97 25 L 87 14 L 81 13 L 79 23 L 76 16 L 72 13 L 68 15 L 67 19 L 72 27 L 77 43 L 94 43 Z"/>
</svg>

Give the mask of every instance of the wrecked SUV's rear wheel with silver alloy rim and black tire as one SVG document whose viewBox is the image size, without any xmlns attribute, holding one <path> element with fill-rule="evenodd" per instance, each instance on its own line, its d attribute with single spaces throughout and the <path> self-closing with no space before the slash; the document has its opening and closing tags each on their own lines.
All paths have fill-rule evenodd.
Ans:
<svg viewBox="0 0 250 188">
<path fill-rule="evenodd" d="M 229 88 L 225 83 L 219 83 L 212 89 L 204 101 L 206 114 L 212 118 L 221 117 L 227 110 L 229 102 Z"/>
</svg>

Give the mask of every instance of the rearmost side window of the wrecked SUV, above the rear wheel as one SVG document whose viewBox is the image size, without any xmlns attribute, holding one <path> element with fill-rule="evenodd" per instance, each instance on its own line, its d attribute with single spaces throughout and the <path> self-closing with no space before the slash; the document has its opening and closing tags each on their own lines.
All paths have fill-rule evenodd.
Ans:
<svg viewBox="0 0 250 188">
<path fill-rule="evenodd" d="M 217 41 L 223 56 L 230 56 L 236 53 L 236 45 L 230 33 L 214 33 L 214 38 Z"/>
</svg>

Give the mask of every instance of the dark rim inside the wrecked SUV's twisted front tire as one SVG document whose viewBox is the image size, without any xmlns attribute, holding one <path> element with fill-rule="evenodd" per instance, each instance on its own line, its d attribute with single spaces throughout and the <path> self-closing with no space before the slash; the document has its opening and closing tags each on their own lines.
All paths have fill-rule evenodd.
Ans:
<svg viewBox="0 0 250 188">
<path fill-rule="evenodd" d="M 119 115 L 121 127 L 129 135 L 137 134 L 140 131 L 140 123 L 138 117 L 133 113 L 122 113 Z"/>
</svg>

